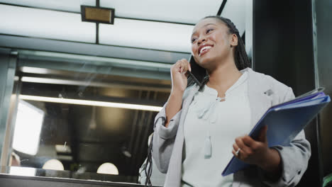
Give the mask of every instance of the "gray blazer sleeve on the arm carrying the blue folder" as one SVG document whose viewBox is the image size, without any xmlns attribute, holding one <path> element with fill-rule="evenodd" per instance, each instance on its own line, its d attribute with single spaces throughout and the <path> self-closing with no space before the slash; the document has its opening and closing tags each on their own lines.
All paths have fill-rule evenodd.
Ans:
<svg viewBox="0 0 332 187">
<path fill-rule="evenodd" d="M 287 94 L 284 96 L 284 102 L 293 98 L 293 91 L 289 88 Z M 276 146 L 273 148 L 280 153 L 282 175 L 278 181 L 272 182 L 269 181 L 264 172 L 260 170 L 263 183 L 272 187 L 296 186 L 304 174 L 304 171 L 306 171 L 311 156 L 310 143 L 305 138 L 304 130 L 301 130 L 299 135 L 297 135 L 288 146 Z"/>
</svg>

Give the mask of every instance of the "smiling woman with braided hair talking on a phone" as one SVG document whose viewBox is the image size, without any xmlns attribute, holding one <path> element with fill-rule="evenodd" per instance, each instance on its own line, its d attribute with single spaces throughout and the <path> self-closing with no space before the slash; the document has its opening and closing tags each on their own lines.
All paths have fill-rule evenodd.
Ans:
<svg viewBox="0 0 332 187">
<path fill-rule="evenodd" d="M 201 89 L 187 87 L 191 66 L 177 61 L 171 68 L 170 98 L 155 118 L 153 158 L 167 172 L 165 186 L 295 186 L 311 154 L 304 132 L 287 146 L 271 148 L 267 128 L 257 140 L 245 135 L 268 108 L 294 98 L 292 89 L 249 68 L 229 19 L 208 16 L 199 21 L 192 33 L 192 55 L 208 81 Z M 252 166 L 221 176 L 233 155 Z"/>
</svg>

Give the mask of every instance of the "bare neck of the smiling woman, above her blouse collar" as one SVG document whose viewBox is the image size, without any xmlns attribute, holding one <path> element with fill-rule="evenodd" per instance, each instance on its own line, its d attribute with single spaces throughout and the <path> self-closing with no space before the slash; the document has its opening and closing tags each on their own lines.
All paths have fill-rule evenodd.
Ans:
<svg viewBox="0 0 332 187">
<path fill-rule="evenodd" d="M 220 64 L 213 71 L 209 71 L 207 86 L 216 89 L 219 95 L 223 95 L 241 76 L 235 62 Z M 221 93 L 220 93 L 221 92 Z"/>
</svg>

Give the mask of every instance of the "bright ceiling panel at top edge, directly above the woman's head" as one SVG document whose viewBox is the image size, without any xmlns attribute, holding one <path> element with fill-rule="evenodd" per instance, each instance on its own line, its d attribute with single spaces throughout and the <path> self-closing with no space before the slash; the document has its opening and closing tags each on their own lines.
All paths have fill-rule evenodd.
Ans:
<svg viewBox="0 0 332 187">
<path fill-rule="evenodd" d="M 100 6 L 116 8 L 118 17 L 195 24 L 205 16 L 216 15 L 221 2 L 218 0 L 101 0 Z"/>
</svg>

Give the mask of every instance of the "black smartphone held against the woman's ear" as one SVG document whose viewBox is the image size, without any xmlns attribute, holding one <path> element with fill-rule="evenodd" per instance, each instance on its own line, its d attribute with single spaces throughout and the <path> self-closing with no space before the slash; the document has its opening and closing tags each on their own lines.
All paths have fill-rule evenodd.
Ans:
<svg viewBox="0 0 332 187">
<path fill-rule="evenodd" d="M 192 85 L 196 83 L 201 87 L 204 84 L 204 81 L 206 81 L 207 74 L 206 70 L 203 67 L 200 67 L 199 64 L 197 64 L 194 60 L 194 57 L 190 55 L 189 57 L 189 64 L 190 67 L 192 67 L 192 72 L 188 71 L 188 85 Z"/>
</svg>

